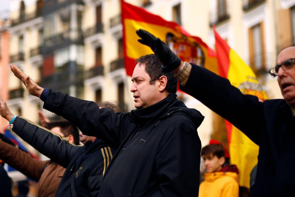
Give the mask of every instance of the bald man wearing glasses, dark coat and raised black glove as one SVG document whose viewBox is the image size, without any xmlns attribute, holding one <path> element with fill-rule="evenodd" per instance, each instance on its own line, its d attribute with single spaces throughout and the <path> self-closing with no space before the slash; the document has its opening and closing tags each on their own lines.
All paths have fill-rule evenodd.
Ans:
<svg viewBox="0 0 295 197">
<path fill-rule="evenodd" d="M 269 73 L 278 76 L 284 99 L 260 102 L 243 95 L 228 79 L 178 57 L 161 40 L 138 30 L 140 43 L 149 46 L 162 62 L 162 70 L 173 71 L 180 88 L 226 118 L 259 145 L 255 185 L 251 196 L 294 196 L 295 188 L 295 47 L 283 50 Z M 178 59 L 179 60 L 179 59 Z M 177 65 L 178 62 L 178 65 Z"/>
</svg>

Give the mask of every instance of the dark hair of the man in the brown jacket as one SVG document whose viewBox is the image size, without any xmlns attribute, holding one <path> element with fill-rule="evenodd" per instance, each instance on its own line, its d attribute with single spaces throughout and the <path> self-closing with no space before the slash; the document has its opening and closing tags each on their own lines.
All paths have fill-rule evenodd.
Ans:
<svg viewBox="0 0 295 197">
<path fill-rule="evenodd" d="M 63 133 L 65 137 L 72 135 L 74 137 L 74 144 L 79 145 L 79 130 L 74 124 L 69 121 L 60 120 L 48 122 L 46 125 L 46 128 L 49 130 L 54 127 L 60 127 L 60 132 Z"/>
</svg>

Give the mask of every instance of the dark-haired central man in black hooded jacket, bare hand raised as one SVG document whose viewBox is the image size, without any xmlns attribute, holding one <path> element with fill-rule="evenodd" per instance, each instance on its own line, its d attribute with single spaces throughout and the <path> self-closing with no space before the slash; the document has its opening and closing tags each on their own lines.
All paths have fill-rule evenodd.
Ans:
<svg viewBox="0 0 295 197">
<path fill-rule="evenodd" d="M 198 196 L 197 128 L 204 116 L 176 99 L 177 80 L 172 72 L 161 72 L 154 54 L 136 63 L 131 92 L 137 109 L 130 113 L 99 109 L 94 102 L 38 86 L 15 65 L 11 70 L 32 95 L 41 97 L 44 109 L 118 148 L 105 171 L 100 196 Z"/>
</svg>

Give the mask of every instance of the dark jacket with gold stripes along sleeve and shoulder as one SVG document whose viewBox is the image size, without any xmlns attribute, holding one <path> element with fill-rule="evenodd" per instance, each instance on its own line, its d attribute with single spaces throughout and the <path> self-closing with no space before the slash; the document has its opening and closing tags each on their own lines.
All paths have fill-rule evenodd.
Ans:
<svg viewBox="0 0 295 197">
<path fill-rule="evenodd" d="M 101 139 L 75 146 L 66 138 L 17 117 L 13 131 L 52 161 L 66 168 L 56 196 L 97 196 L 106 167 L 116 152 Z"/>
</svg>

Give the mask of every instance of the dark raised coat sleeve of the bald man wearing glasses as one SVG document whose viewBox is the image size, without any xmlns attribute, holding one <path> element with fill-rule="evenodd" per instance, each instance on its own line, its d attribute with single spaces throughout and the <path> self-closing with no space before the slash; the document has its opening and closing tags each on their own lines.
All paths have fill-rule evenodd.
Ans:
<svg viewBox="0 0 295 197">
<path fill-rule="evenodd" d="M 259 145 L 264 114 L 263 103 L 256 96 L 242 94 L 228 79 L 194 64 L 187 83 L 180 89 L 231 122 Z"/>
</svg>

